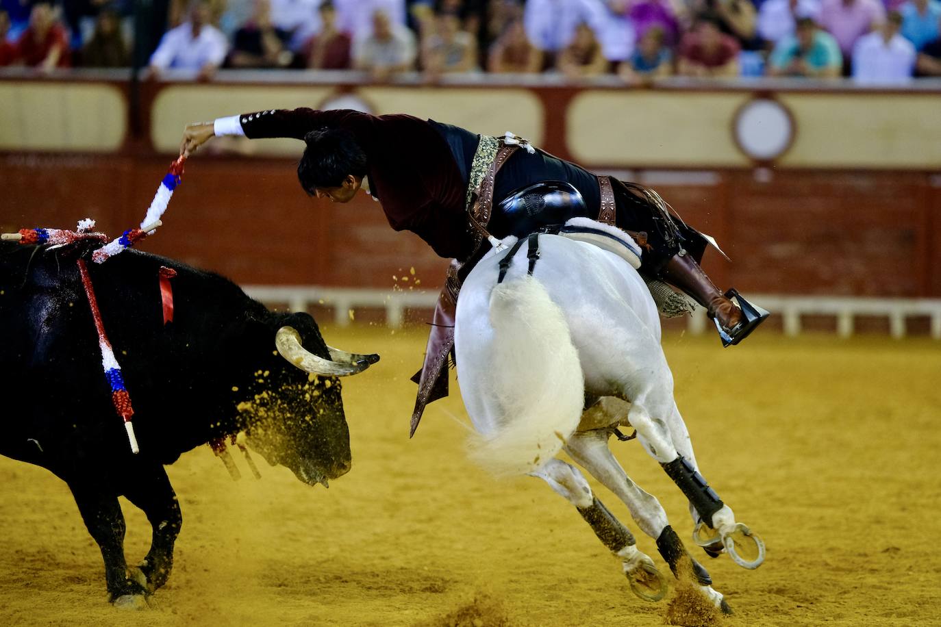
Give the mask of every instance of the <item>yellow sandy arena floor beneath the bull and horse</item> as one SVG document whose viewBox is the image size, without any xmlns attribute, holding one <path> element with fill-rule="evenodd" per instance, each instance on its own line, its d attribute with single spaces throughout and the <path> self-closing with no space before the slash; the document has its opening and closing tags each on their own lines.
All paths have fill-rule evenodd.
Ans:
<svg viewBox="0 0 941 627">
<path fill-rule="evenodd" d="M 232 482 L 208 447 L 169 468 L 183 533 L 148 611 L 105 602 L 101 554 L 65 484 L 0 459 L 0 624 L 662 625 L 666 602 L 636 599 L 547 485 L 494 481 L 465 459 L 456 389 L 408 440 L 423 334 L 325 329 L 383 357 L 344 382 L 353 470 L 329 491 L 266 464 L 256 481 L 238 458 L 246 477 Z M 760 332 L 726 351 L 715 337 L 664 345 L 703 474 L 764 537 L 765 564 L 744 571 L 693 547 L 658 464 L 636 443 L 613 446 L 726 593 L 736 615 L 723 624 L 941 624 L 941 345 Z M 718 374 L 732 369 L 750 378 Z M 136 563 L 150 527 L 122 505 Z M 654 542 L 638 542 L 665 571 Z"/>
</svg>

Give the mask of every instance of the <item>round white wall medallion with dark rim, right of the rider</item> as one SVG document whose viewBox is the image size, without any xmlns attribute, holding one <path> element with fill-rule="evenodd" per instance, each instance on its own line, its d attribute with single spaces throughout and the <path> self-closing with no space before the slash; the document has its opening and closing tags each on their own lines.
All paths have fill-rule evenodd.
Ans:
<svg viewBox="0 0 941 627">
<path fill-rule="evenodd" d="M 732 123 L 735 143 L 758 162 L 774 161 L 794 141 L 794 118 L 781 102 L 756 98 L 739 107 Z"/>
</svg>

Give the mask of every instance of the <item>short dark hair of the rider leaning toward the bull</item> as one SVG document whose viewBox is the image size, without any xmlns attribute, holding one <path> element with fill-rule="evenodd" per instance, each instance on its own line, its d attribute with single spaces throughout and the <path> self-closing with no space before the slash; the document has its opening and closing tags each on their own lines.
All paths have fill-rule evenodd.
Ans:
<svg viewBox="0 0 941 627">
<path fill-rule="evenodd" d="M 347 175 L 366 176 L 366 153 L 353 133 L 318 129 L 304 136 L 307 148 L 297 164 L 297 180 L 310 196 L 316 189 L 340 187 Z"/>
</svg>

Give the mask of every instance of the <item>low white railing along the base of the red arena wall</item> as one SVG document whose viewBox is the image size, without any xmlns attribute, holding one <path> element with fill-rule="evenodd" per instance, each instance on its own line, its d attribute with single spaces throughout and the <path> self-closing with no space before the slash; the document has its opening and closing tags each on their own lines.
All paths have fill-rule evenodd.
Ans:
<svg viewBox="0 0 941 627">
<path fill-rule="evenodd" d="M 438 302 L 437 291 L 431 290 L 377 290 L 364 288 L 323 288 L 317 286 L 247 286 L 252 298 L 266 304 L 286 305 L 292 311 L 307 311 L 311 306 L 333 309 L 334 323 L 346 326 L 353 319 L 350 311 L 357 307 L 386 310 L 386 323 L 399 328 L 405 319 L 405 310 L 431 309 Z M 850 337 L 857 316 L 888 319 L 889 334 L 905 337 L 908 318 L 928 318 L 931 337 L 941 339 L 941 299 L 855 298 L 850 296 L 773 296 L 749 294 L 749 301 L 763 306 L 781 317 L 787 336 L 801 334 L 803 316 L 833 316 L 837 319 L 837 335 Z M 689 320 L 690 333 L 702 334 L 709 321 L 706 311 L 697 307 Z"/>
</svg>

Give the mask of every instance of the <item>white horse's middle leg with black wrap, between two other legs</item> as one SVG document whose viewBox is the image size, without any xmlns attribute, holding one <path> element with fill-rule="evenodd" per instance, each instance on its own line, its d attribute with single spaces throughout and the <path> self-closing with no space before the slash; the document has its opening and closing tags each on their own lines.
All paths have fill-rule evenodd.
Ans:
<svg viewBox="0 0 941 627">
<path fill-rule="evenodd" d="M 694 583 L 712 603 L 726 614 L 730 613 L 731 609 L 723 595 L 712 588 L 709 572 L 687 553 L 677 532 L 667 521 L 660 502 L 631 481 L 621 464 L 614 459 L 608 447 L 610 436 L 611 431 L 605 429 L 576 431 L 568 439 L 566 453 L 628 506 L 631 517 L 641 530 L 657 541 L 657 550 L 674 576 L 679 578 L 689 573 L 688 576 L 692 576 Z"/>
</svg>

